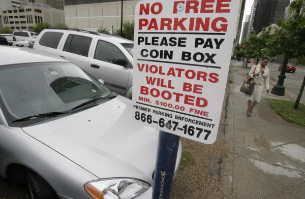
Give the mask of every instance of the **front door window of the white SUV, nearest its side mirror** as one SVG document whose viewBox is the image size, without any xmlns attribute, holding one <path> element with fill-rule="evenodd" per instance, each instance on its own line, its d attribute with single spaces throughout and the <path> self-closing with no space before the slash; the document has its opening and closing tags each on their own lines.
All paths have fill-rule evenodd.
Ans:
<svg viewBox="0 0 305 199">
<path fill-rule="evenodd" d="M 123 52 L 121 52 L 115 45 L 100 40 L 98 42 L 94 58 L 112 63 L 114 57 L 126 58 Z M 126 60 L 128 59 L 126 58 Z"/>
</svg>

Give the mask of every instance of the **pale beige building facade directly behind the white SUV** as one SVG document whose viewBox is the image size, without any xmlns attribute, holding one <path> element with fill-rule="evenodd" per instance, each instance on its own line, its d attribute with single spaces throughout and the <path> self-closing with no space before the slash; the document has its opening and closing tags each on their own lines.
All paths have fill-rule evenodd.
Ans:
<svg viewBox="0 0 305 199">
<path fill-rule="evenodd" d="M 139 0 L 124 0 L 123 21 L 133 21 Z M 66 0 L 65 21 L 71 28 L 96 31 L 120 28 L 121 0 Z"/>
</svg>

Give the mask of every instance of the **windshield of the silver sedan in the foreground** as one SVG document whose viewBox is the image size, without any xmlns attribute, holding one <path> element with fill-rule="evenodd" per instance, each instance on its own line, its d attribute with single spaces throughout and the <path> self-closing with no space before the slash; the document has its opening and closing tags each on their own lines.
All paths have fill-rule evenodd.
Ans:
<svg viewBox="0 0 305 199">
<path fill-rule="evenodd" d="M 73 63 L 0 66 L 0 106 L 8 121 L 66 112 L 112 93 Z"/>
</svg>

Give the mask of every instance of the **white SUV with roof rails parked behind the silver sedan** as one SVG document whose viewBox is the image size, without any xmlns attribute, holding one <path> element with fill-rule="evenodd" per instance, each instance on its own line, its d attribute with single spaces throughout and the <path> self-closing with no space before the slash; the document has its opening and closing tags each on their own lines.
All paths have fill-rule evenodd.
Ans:
<svg viewBox="0 0 305 199">
<path fill-rule="evenodd" d="M 133 41 L 113 35 L 68 29 L 44 29 L 34 48 L 65 58 L 102 79 L 112 91 L 132 97 Z"/>
</svg>

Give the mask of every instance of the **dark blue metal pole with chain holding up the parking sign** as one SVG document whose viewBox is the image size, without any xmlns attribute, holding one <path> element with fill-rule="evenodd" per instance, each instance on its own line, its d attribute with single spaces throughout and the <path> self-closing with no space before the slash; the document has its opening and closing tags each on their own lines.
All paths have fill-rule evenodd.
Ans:
<svg viewBox="0 0 305 199">
<path fill-rule="evenodd" d="M 175 174 L 179 136 L 160 130 L 153 199 L 169 199 Z"/>
</svg>

